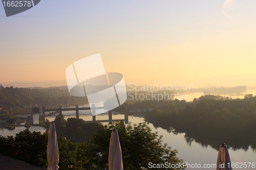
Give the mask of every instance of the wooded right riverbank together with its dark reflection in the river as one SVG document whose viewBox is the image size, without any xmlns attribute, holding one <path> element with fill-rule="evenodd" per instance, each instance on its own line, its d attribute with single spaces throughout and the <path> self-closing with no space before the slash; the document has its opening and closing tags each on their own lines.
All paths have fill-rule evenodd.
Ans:
<svg viewBox="0 0 256 170">
<path fill-rule="evenodd" d="M 196 141 L 219 149 L 225 142 L 233 149 L 256 149 L 256 96 L 244 99 L 204 95 L 193 102 L 165 101 L 145 113 L 147 122 L 168 132 L 186 133 L 188 143 Z"/>
</svg>

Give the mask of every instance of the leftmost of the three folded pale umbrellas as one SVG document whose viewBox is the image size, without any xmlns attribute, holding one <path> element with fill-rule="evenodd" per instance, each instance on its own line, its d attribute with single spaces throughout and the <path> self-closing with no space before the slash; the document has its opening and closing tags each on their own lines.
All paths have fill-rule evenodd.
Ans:
<svg viewBox="0 0 256 170">
<path fill-rule="evenodd" d="M 49 128 L 47 160 L 49 163 L 48 169 L 56 170 L 59 168 L 59 166 L 57 165 L 59 163 L 58 140 L 56 136 L 55 125 L 53 122 L 50 124 Z"/>
</svg>

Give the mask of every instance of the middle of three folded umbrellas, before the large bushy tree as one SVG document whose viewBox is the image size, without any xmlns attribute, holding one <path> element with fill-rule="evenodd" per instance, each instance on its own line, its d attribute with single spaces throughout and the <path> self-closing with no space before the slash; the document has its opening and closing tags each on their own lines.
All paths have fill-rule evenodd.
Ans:
<svg viewBox="0 0 256 170">
<path fill-rule="evenodd" d="M 109 169 L 123 170 L 122 151 L 117 131 L 114 129 L 110 138 Z"/>
</svg>

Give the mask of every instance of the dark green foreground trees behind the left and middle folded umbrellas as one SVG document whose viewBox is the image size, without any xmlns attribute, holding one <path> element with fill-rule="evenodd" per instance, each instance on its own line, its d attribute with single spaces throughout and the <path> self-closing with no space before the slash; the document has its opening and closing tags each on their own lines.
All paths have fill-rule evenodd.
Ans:
<svg viewBox="0 0 256 170">
<path fill-rule="evenodd" d="M 166 144 L 162 145 L 162 136 L 152 133 L 145 123 L 125 126 L 123 122 L 115 122 L 104 126 L 98 124 L 97 134 L 94 134 L 87 143 L 73 143 L 64 137 L 58 137 L 59 170 L 67 169 L 70 160 L 74 162 L 74 169 L 77 170 L 109 169 L 109 145 L 114 128 L 118 131 L 123 167 L 127 170 L 150 169 L 149 162 L 183 162 L 177 157 L 178 152 L 171 150 Z M 17 133 L 15 137 L 0 136 L 0 153 L 47 168 L 47 142 L 48 132 L 41 134 L 26 129 Z"/>
</svg>

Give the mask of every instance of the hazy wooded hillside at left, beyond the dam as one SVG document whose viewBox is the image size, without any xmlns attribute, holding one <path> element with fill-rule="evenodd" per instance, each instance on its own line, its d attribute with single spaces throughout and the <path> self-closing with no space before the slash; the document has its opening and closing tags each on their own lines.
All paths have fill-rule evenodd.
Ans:
<svg viewBox="0 0 256 170">
<path fill-rule="evenodd" d="M 69 95 L 67 89 L 4 88 L 0 85 L 0 114 L 22 112 L 29 106 L 58 106 L 60 104 L 86 103 L 86 98 Z"/>
</svg>

